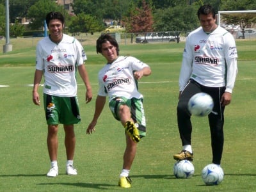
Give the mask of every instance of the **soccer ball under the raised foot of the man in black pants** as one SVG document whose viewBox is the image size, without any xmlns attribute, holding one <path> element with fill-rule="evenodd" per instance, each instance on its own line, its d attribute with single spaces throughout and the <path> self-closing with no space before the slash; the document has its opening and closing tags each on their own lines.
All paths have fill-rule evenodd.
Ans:
<svg viewBox="0 0 256 192">
<path fill-rule="evenodd" d="M 193 164 L 188 160 L 177 161 L 173 166 L 173 174 L 176 178 L 188 179 L 195 172 Z"/>
</svg>

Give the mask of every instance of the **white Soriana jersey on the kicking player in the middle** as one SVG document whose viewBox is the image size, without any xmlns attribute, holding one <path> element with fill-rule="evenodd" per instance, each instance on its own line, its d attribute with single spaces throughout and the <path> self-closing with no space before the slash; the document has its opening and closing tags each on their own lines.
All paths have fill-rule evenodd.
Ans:
<svg viewBox="0 0 256 192">
<path fill-rule="evenodd" d="M 143 95 L 138 92 L 138 84 L 133 72 L 144 67 L 148 65 L 134 57 L 119 56 L 113 63 L 105 65 L 99 71 L 98 95 L 108 96 L 109 100 L 114 97 L 142 98 Z"/>
</svg>

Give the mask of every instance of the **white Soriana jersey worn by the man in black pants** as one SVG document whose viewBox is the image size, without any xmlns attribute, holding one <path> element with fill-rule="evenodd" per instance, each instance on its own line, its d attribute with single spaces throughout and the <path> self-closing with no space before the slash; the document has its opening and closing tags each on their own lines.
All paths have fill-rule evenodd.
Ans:
<svg viewBox="0 0 256 192">
<path fill-rule="evenodd" d="M 204 86 L 226 86 L 227 68 L 228 72 L 232 73 L 232 78 L 236 78 L 236 63 L 229 62 L 237 58 L 236 42 L 232 34 L 220 26 L 209 34 L 205 33 L 202 27 L 189 33 L 183 58 L 184 62 L 191 63 L 185 64 L 187 67 L 182 63 L 182 70 L 187 73 L 183 72 L 181 75 L 188 75 Z M 233 64 L 235 65 L 227 66 Z M 188 78 L 180 77 L 181 89 L 187 83 L 182 82 L 182 79 Z"/>
</svg>

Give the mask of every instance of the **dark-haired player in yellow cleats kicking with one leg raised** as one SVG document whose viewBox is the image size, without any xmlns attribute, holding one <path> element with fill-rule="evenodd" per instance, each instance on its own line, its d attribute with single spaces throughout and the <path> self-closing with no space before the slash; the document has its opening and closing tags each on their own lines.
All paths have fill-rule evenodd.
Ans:
<svg viewBox="0 0 256 192">
<path fill-rule="evenodd" d="M 134 57 L 119 56 L 118 43 L 111 35 L 101 35 L 96 47 L 97 53 L 100 52 L 107 63 L 98 74 L 99 92 L 95 113 L 86 133 L 92 134 L 95 131 L 95 125 L 108 96 L 111 113 L 125 127 L 126 148 L 118 185 L 131 188 L 129 172 L 136 154 L 136 143 L 146 135 L 143 95 L 138 92 L 137 80 L 149 76 L 151 70 L 147 64 Z"/>
</svg>

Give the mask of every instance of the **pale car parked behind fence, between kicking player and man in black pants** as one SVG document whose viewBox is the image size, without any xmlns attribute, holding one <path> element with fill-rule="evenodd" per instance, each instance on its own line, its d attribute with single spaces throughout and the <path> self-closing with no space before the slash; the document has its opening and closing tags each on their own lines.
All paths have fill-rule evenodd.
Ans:
<svg viewBox="0 0 256 192">
<path fill-rule="evenodd" d="M 136 36 L 135 42 L 147 44 L 149 42 L 176 42 L 176 38 L 170 33 L 146 33 Z"/>
</svg>

